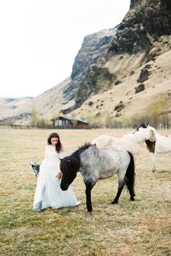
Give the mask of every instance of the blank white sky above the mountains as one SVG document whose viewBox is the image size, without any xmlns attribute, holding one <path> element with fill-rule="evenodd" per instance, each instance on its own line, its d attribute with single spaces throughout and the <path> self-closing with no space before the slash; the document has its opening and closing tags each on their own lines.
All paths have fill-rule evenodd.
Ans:
<svg viewBox="0 0 171 256">
<path fill-rule="evenodd" d="M 118 25 L 130 0 L 0 0 L 0 97 L 36 97 L 71 75 L 84 37 Z"/>
</svg>

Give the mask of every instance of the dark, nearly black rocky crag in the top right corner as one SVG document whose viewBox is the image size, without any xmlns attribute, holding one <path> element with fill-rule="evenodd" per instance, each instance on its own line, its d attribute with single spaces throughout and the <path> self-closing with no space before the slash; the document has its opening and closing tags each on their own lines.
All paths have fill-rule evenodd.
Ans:
<svg viewBox="0 0 171 256">
<path fill-rule="evenodd" d="M 151 49 L 162 35 L 171 34 L 170 0 L 132 0 L 130 11 L 111 43 L 114 53 L 137 53 Z"/>
</svg>

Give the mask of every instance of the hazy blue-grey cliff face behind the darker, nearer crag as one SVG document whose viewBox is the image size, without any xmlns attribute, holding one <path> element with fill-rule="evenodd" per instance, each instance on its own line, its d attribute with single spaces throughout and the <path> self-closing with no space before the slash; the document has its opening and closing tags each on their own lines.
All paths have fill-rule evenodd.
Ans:
<svg viewBox="0 0 171 256">
<path fill-rule="evenodd" d="M 114 34 L 116 34 L 116 28 L 98 31 L 84 38 L 81 49 L 73 63 L 71 82 L 64 90 L 66 99 L 71 100 L 76 97 L 79 84 L 86 77 L 89 67 L 103 59 L 111 45 Z"/>
</svg>

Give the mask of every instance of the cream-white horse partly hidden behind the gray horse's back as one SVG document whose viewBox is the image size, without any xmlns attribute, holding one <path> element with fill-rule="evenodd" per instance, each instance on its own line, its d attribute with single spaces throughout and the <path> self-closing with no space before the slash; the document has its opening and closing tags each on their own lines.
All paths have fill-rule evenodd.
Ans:
<svg viewBox="0 0 171 256">
<path fill-rule="evenodd" d="M 153 127 L 139 127 L 135 132 L 131 132 L 127 135 L 123 135 L 122 138 L 116 138 L 110 135 L 100 135 L 95 140 L 92 140 L 92 144 L 98 146 L 98 148 L 104 148 L 106 146 L 122 146 L 132 154 L 139 154 L 143 143 L 146 140 L 151 142 L 156 141 L 156 132 Z"/>
</svg>

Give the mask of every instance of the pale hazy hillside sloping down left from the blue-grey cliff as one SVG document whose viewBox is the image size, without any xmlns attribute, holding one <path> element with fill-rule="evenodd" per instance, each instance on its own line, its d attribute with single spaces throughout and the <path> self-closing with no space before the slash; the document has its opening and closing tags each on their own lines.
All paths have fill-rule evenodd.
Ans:
<svg viewBox="0 0 171 256">
<path fill-rule="evenodd" d="M 67 78 L 26 104 L 7 111 L 4 118 L 0 118 L 0 120 L 10 121 L 14 124 L 29 124 L 31 121 L 30 116 L 33 112 L 36 112 L 40 118 L 49 120 L 59 113 L 61 106 L 70 108 L 74 104 L 74 100 L 66 100 L 63 94 L 63 89 L 68 86 L 70 81 L 71 78 Z"/>
</svg>

